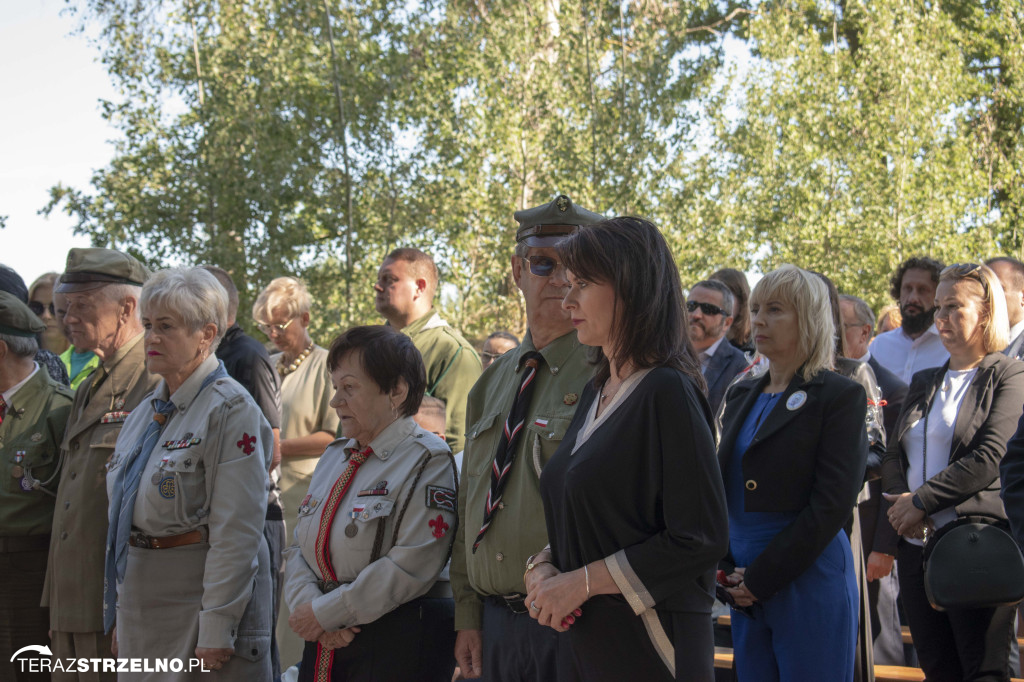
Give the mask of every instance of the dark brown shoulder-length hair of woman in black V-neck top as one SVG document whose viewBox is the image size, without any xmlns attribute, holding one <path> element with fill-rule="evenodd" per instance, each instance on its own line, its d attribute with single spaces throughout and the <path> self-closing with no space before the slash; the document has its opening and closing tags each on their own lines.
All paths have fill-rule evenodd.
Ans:
<svg viewBox="0 0 1024 682">
<path fill-rule="evenodd" d="M 582 280 L 610 284 L 615 292 L 612 334 L 621 364 L 638 369 L 671 367 L 707 394 L 700 363 L 687 334 L 679 268 L 665 237 L 642 218 L 596 222 L 558 245 L 565 267 Z M 594 381 L 610 374 L 608 358 L 594 351 Z"/>
</svg>

